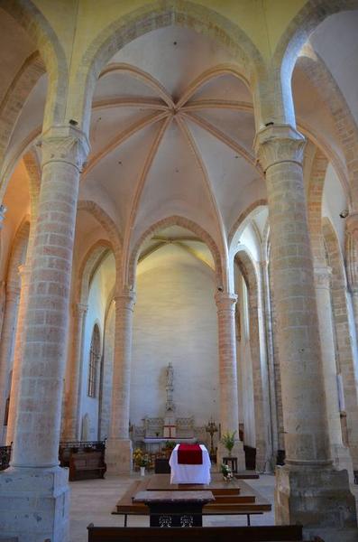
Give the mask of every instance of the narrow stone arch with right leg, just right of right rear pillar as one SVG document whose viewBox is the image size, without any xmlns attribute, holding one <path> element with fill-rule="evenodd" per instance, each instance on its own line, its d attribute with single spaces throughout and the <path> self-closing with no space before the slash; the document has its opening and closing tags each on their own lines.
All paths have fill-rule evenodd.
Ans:
<svg viewBox="0 0 358 542">
<path fill-rule="evenodd" d="M 253 378 L 253 405 L 255 416 L 256 435 L 256 465 L 260 471 L 264 471 L 266 463 L 271 459 L 270 443 L 267 435 L 271 435 L 269 402 L 267 400 L 268 378 L 267 369 L 262 360 L 265 356 L 262 349 L 262 326 L 261 321 L 261 296 L 260 280 L 257 276 L 252 258 L 246 250 L 239 250 L 235 255 L 235 262 L 239 266 L 249 293 L 250 307 L 250 350 L 252 357 Z"/>
</svg>

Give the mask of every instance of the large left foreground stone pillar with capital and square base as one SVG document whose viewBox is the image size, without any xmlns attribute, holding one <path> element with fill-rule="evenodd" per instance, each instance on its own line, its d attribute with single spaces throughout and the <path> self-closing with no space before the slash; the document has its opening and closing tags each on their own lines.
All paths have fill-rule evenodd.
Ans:
<svg viewBox="0 0 358 542">
<path fill-rule="evenodd" d="M 78 180 L 88 148 L 71 126 L 42 135 L 14 452 L 0 472 L 0 532 L 19 542 L 69 539 L 68 470 L 58 453 Z"/>
</svg>

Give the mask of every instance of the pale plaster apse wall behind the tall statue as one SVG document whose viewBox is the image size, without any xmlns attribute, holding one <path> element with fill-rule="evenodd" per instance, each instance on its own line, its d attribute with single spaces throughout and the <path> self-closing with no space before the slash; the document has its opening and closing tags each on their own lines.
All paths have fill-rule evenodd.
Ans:
<svg viewBox="0 0 358 542">
<path fill-rule="evenodd" d="M 131 423 L 164 416 L 166 367 L 174 369 L 176 416 L 219 420 L 214 272 L 167 245 L 138 266 L 133 322 Z"/>
</svg>

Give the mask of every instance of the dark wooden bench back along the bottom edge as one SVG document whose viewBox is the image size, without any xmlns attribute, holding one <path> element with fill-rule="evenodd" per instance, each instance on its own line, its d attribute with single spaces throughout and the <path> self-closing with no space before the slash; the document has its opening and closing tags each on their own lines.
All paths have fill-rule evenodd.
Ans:
<svg viewBox="0 0 358 542">
<path fill-rule="evenodd" d="M 260 527 L 87 527 L 88 542 L 296 542 L 303 540 L 300 525 Z"/>
</svg>

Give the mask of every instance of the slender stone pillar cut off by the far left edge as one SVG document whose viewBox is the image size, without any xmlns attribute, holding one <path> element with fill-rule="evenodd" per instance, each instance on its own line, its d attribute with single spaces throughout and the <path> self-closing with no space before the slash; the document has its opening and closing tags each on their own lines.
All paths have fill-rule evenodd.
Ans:
<svg viewBox="0 0 358 542">
<path fill-rule="evenodd" d="M 5 316 L 0 342 L 0 427 L 1 444 L 5 442 L 3 434 L 7 382 L 11 370 L 11 361 L 14 351 L 14 332 L 16 329 L 17 307 L 20 297 L 20 285 L 7 284 L 5 286 Z"/>
</svg>

